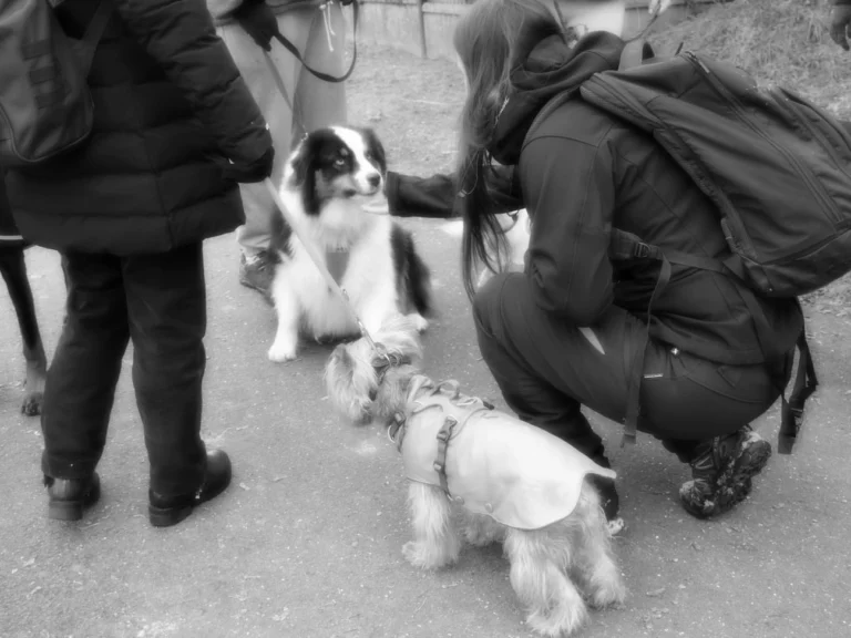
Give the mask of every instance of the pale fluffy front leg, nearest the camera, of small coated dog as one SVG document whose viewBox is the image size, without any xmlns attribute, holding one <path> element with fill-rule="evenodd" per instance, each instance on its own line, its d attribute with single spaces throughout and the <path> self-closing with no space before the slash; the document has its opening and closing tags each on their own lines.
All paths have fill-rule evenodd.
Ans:
<svg viewBox="0 0 851 638">
<path fill-rule="evenodd" d="M 402 554 L 414 567 L 437 569 L 458 560 L 461 541 L 452 526 L 452 507 L 440 487 L 411 482 L 408 487 L 413 541 Z"/>
</svg>

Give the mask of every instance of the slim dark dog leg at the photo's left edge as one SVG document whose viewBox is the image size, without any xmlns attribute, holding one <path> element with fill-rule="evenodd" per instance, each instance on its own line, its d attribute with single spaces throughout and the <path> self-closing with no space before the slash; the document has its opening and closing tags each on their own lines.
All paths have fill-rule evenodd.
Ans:
<svg viewBox="0 0 851 638">
<path fill-rule="evenodd" d="M 23 339 L 23 357 L 27 360 L 27 381 L 21 412 L 28 416 L 34 416 L 41 412 L 44 380 L 48 374 L 48 358 L 41 342 L 32 289 L 27 278 L 23 248 L 18 246 L 0 248 L 0 271 L 6 279 L 9 296 L 18 316 L 18 325 Z"/>
</svg>

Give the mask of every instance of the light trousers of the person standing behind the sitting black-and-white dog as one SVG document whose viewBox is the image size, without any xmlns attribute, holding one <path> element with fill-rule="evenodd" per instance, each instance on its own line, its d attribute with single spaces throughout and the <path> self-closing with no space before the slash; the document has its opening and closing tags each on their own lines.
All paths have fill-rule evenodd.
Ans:
<svg viewBox="0 0 851 638">
<path fill-rule="evenodd" d="M 334 76 L 346 72 L 346 20 L 338 2 L 329 3 L 325 10 L 306 8 L 280 13 L 278 28 L 310 68 Z M 293 104 L 290 110 L 264 60 L 263 49 L 243 28 L 237 23 L 224 24 L 218 28 L 218 34 L 269 125 L 275 144 L 271 177 L 277 184 L 294 142 L 315 128 L 346 122 L 345 83 L 319 80 L 305 70 L 280 42 L 273 40 L 269 54 L 284 80 Z M 240 184 L 239 188 L 245 225 L 237 229 L 236 238 L 246 258 L 252 258 L 269 246 L 276 208 L 263 183 Z"/>
</svg>

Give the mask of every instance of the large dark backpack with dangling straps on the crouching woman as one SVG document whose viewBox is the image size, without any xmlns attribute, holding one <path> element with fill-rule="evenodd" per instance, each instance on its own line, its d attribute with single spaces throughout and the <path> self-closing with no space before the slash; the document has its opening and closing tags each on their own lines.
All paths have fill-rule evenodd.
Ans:
<svg viewBox="0 0 851 638">
<path fill-rule="evenodd" d="M 637 60 L 636 60 L 637 58 Z M 762 89 L 741 69 L 690 51 L 657 60 L 640 41 L 629 42 L 617 71 L 596 73 L 553 97 L 527 135 L 548 113 L 581 96 L 597 109 L 650 133 L 715 204 L 729 254 L 721 260 L 663 251 L 613 229 L 613 259 L 660 261 L 649 313 L 670 278 L 670 264 L 737 278 L 767 361 L 788 352 L 761 341 L 769 323 L 755 295 L 793 298 L 851 270 L 851 135 L 829 113 L 780 88 Z M 816 391 L 814 366 L 802 331 L 798 372 L 782 408 L 778 451 L 790 454 Z M 791 364 L 791 363 L 790 363 Z M 635 441 L 644 348 L 633 363 L 624 422 Z M 781 384 L 780 384 L 781 385 Z"/>
</svg>

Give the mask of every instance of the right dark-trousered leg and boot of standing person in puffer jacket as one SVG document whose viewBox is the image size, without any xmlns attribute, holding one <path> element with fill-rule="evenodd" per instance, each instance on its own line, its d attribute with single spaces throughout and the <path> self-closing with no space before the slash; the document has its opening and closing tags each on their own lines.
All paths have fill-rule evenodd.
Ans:
<svg viewBox="0 0 851 638">
<path fill-rule="evenodd" d="M 174 525 L 230 482 L 222 451 L 201 440 L 207 308 L 202 244 L 122 259 L 133 387 L 151 463 L 150 515 Z"/>
</svg>

